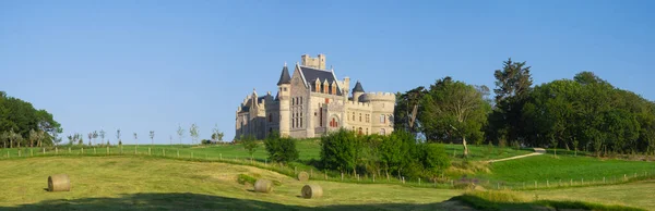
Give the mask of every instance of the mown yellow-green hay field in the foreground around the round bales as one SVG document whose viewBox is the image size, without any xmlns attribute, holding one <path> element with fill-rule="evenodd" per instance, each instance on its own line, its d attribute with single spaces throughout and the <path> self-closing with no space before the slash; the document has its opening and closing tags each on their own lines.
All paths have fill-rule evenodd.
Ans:
<svg viewBox="0 0 655 211">
<path fill-rule="evenodd" d="M 47 193 L 47 177 L 66 173 L 72 191 Z M 240 174 L 279 181 L 272 194 L 253 193 Z M 37 157 L 0 160 L 0 210 L 289 210 L 321 208 L 432 210 L 460 190 L 390 184 L 311 182 L 324 196 L 299 197 L 303 183 L 274 172 L 226 163 L 148 157 Z"/>
</svg>

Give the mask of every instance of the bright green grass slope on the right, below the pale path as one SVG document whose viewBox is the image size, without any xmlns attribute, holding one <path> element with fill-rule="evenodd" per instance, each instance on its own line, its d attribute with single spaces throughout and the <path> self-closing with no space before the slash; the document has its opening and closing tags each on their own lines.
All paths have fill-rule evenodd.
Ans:
<svg viewBox="0 0 655 211">
<path fill-rule="evenodd" d="M 489 181 L 519 185 L 527 183 L 527 186 L 546 186 L 546 181 L 551 186 L 559 185 L 560 179 L 564 184 L 580 185 L 585 183 L 620 182 L 636 176 L 654 175 L 655 163 L 642 161 L 624 161 L 616 159 L 597 159 L 592 157 L 570 157 L 550 154 L 535 156 L 516 160 L 496 162 L 490 164 L 490 173 L 477 175 Z M 496 185 L 496 184 L 495 184 Z"/>
</svg>

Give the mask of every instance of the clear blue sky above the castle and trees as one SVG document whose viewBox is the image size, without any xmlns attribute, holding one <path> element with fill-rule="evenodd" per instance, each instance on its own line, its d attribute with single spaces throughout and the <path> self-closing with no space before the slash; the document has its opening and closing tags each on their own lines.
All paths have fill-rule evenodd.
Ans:
<svg viewBox="0 0 655 211">
<path fill-rule="evenodd" d="M 536 84 L 595 72 L 655 99 L 655 1 L 0 1 L 0 90 L 64 135 L 234 137 L 246 95 L 325 53 L 341 79 L 405 91 L 452 76 L 493 87 L 513 58 Z M 257 76 L 257 77 L 255 77 Z M 186 142 L 190 141 L 186 135 Z"/>
</svg>

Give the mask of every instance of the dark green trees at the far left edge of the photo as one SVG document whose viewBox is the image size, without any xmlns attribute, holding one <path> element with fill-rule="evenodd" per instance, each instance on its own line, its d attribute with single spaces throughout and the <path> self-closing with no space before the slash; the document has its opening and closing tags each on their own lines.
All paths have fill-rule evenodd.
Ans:
<svg viewBox="0 0 655 211">
<path fill-rule="evenodd" d="M 21 135 L 21 138 L 14 137 L 12 140 L 0 138 L 1 147 L 34 146 L 34 142 L 29 142 L 34 141 L 29 138 L 31 131 L 45 132 L 44 137 L 39 138 L 39 141 L 43 141 L 40 145 L 51 146 L 56 142 L 55 137 L 62 132 L 62 128 L 52 119 L 52 114 L 46 110 L 36 110 L 32 103 L 9 97 L 4 91 L 0 91 L 0 133 L 11 131 Z"/>
</svg>

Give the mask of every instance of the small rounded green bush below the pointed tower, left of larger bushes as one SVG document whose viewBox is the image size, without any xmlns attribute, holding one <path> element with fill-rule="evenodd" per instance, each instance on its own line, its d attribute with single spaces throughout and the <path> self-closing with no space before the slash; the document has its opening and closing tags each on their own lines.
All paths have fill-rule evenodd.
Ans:
<svg viewBox="0 0 655 211">
<path fill-rule="evenodd" d="M 288 163 L 298 160 L 300 157 L 296 148 L 296 139 L 279 137 L 276 132 L 269 135 L 264 141 L 264 147 L 269 152 L 269 159 L 274 162 Z"/>
</svg>

